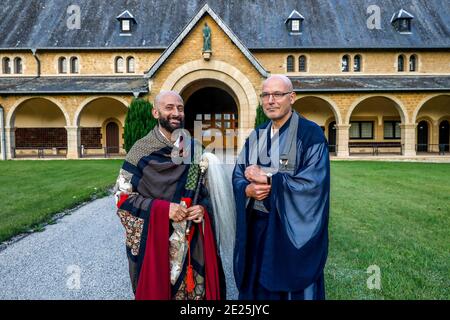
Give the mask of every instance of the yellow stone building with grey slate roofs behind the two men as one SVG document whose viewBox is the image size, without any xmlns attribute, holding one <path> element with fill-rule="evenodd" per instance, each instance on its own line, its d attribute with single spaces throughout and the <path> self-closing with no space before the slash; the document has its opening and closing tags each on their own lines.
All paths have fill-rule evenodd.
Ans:
<svg viewBox="0 0 450 320">
<path fill-rule="evenodd" d="M 442 156 L 449 49 L 440 0 L 4 0 L 0 158 L 123 155 L 131 100 L 160 90 L 205 141 L 251 129 L 270 74 L 291 78 L 337 157 Z"/>
</svg>

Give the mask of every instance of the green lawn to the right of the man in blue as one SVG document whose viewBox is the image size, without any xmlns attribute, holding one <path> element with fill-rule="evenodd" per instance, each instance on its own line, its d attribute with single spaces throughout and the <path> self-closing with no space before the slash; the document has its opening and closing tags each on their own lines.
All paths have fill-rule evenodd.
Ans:
<svg viewBox="0 0 450 320">
<path fill-rule="evenodd" d="M 450 164 L 333 162 L 331 186 L 327 298 L 450 298 Z"/>
</svg>

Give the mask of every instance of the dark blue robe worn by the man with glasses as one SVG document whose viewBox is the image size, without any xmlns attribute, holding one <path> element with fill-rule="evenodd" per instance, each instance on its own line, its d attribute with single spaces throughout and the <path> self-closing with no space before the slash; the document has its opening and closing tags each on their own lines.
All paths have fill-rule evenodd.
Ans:
<svg viewBox="0 0 450 320">
<path fill-rule="evenodd" d="M 269 155 L 276 139 L 279 149 L 284 148 L 292 119 L 291 116 L 273 138 L 270 121 L 257 128 L 257 131 L 268 129 L 265 141 Z M 249 184 L 244 176 L 250 165 L 249 139 L 233 172 L 237 210 L 234 274 L 240 299 L 325 298 L 323 269 L 328 253 L 330 194 L 328 144 L 317 124 L 301 116 L 298 121 L 296 145 L 292 146 L 297 151 L 293 173 L 273 175 L 270 195 L 263 201 L 268 212 L 254 209 L 254 199 L 245 195 Z M 273 167 L 273 162 L 272 159 L 263 163 L 258 157 L 257 164 Z"/>
</svg>

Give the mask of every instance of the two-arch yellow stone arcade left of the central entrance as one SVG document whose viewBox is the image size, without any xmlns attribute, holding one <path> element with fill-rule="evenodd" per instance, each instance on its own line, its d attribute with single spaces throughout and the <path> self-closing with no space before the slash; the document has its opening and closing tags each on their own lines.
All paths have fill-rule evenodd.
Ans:
<svg viewBox="0 0 450 320">
<path fill-rule="evenodd" d="M 53 97 L 23 99 L 4 117 L 0 150 L 8 159 L 124 156 L 127 100 L 98 97 L 67 106 Z"/>
</svg>

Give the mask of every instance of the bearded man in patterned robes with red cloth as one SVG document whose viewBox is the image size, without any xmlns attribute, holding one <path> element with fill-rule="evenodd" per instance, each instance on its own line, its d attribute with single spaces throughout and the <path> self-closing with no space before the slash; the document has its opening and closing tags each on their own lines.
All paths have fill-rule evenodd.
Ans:
<svg viewBox="0 0 450 320">
<path fill-rule="evenodd" d="M 203 185 L 192 204 L 201 145 L 182 130 L 178 93 L 158 94 L 152 113 L 158 125 L 128 152 L 115 186 L 135 298 L 220 299 L 224 277 Z"/>
</svg>

